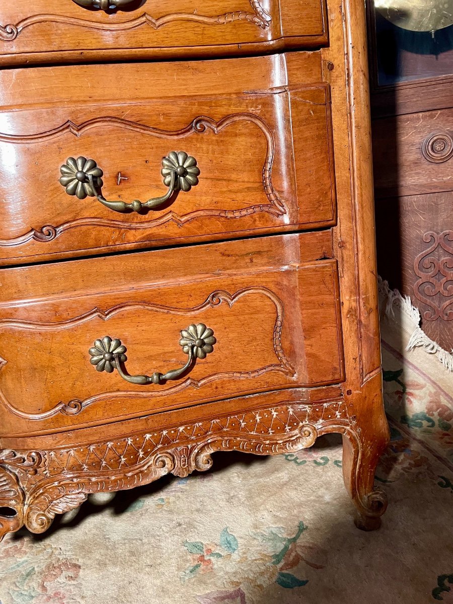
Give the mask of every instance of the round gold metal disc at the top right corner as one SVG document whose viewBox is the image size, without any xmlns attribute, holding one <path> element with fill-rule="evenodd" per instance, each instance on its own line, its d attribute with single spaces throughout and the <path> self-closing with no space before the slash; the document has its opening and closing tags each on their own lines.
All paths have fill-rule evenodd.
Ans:
<svg viewBox="0 0 453 604">
<path fill-rule="evenodd" d="M 374 0 L 374 8 L 405 30 L 434 33 L 453 24 L 453 0 Z"/>
</svg>

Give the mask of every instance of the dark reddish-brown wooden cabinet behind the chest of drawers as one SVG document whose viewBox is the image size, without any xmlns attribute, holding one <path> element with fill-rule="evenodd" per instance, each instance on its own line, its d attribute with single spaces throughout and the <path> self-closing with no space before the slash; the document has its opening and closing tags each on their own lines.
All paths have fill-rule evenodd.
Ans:
<svg viewBox="0 0 453 604">
<path fill-rule="evenodd" d="M 453 349 L 453 25 L 406 31 L 368 5 L 377 266 Z"/>
</svg>

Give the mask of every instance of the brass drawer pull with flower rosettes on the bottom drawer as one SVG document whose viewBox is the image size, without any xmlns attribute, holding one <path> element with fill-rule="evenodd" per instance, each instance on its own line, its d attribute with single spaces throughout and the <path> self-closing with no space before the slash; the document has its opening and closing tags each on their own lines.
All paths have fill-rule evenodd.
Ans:
<svg viewBox="0 0 453 604">
<path fill-rule="evenodd" d="M 204 359 L 213 352 L 216 338 L 214 332 L 204 323 L 197 325 L 189 325 L 187 329 L 181 331 L 181 339 L 179 345 L 182 346 L 183 352 L 188 355 L 187 362 L 179 369 L 172 369 L 167 373 L 155 371 L 152 376 L 130 376 L 124 373 L 121 367 L 127 361 L 126 346 L 121 343 L 118 338 L 110 338 L 104 336 L 102 339 L 97 339 L 94 345 L 89 349 L 90 361 L 95 365 L 97 371 L 107 371 L 112 373 L 114 369 L 118 371 L 121 377 L 131 384 L 162 384 L 170 379 L 178 379 L 189 367 L 196 362 L 196 359 Z"/>
</svg>

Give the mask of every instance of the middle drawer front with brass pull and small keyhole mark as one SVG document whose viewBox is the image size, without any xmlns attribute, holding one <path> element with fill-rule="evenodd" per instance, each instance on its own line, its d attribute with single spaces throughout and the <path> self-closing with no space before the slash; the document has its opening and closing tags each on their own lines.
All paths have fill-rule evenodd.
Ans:
<svg viewBox="0 0 453 604">
<path fill-rule="evenodd" d="M 334 224 L 319 59 L 3 72 L 0 262 Z"/>
</svg>

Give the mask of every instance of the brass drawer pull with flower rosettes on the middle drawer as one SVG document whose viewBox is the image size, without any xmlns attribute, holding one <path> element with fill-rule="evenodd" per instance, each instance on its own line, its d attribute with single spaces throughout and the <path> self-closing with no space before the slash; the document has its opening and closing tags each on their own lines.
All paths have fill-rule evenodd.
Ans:
<svg viewBox="0 0 453 604">
<path fill-rule="evenodd" d="M 134 211 L 140 212 L 143 208 L 156 208 L 170 199 L 175 191 L 190 191 L 198 185 L 200 170 L 197 161 L 184 151 L 171 151 L 167 157 L 162 158 L 161 175 L 164 177 L 164 185 L 168 187 L 167 193 L 161 197 L 148 199 L 141 202 L 134 199 L 132 204 L 124 201 L 108 201 L 104 198 L 101 187 L 103 182 L 101 176 L 103 171 L 98 167 L 94 159 L 86 159 L 83 156 L 77 159 L 69 157 L 66 164 L 60 167 L 60 184 L 65 187 L 68 195 L 75 195 L 78 199 L 95 197 L 101 204 L 117 212 Z"/>
</svg>

